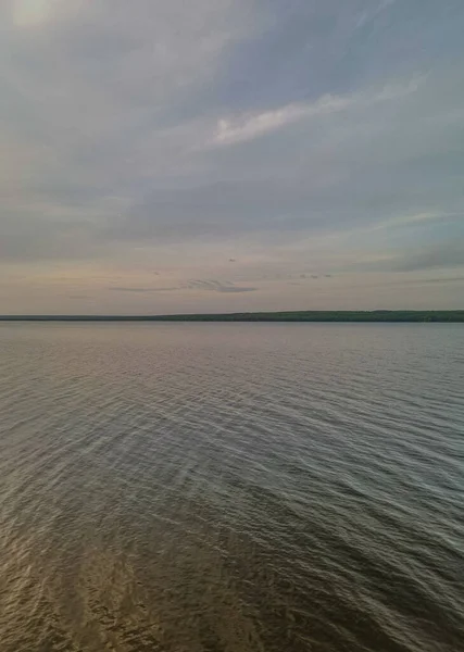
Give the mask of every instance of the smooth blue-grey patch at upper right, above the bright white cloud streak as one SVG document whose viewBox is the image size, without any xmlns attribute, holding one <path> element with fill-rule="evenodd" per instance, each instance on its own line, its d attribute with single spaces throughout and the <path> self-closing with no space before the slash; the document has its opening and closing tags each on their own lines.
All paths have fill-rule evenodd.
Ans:
<svg viewBox="0 0 464 652">
<path fill-rule="evenodd" d="M 460 40 L 463 11 L 450 2 L 412 0 L 260 0 L 261 29 L 227 52 L 209 104 L 276 108 L 347 92 L 394 74 L 447 62 L 444 35 Z M 204 92 L 204 91 L 203 91 Z"/>
</svg>

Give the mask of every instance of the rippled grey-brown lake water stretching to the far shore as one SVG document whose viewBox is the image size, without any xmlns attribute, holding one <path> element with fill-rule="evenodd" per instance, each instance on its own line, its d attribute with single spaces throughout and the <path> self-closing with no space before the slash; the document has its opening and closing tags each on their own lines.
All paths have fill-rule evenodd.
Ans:
<svg viewBox="0 0 464 652">
<path fill-rule="evenodd" d="M 464 649 L 464 326 L 1 324 L 2 652 Z"/>
</svg>

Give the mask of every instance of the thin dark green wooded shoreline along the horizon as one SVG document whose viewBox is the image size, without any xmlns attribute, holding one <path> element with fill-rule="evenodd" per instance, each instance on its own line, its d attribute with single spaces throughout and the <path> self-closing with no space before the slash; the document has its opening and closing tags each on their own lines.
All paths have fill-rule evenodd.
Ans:
<svg viewBox="0 0 464 652">
<path fill-rule="evenodd" d="M 464 310 L 285 311 L 175 315 L 0 315 L 0 322 L 435 322 L 464 323 Z"/>
</svg>

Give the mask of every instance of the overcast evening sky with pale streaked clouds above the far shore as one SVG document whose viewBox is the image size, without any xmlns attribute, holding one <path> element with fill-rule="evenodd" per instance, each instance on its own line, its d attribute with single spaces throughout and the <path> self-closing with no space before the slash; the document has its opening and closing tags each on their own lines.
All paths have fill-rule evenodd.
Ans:
<svg viewBox="0 0 464 652">
<path fill-rule="evenodd" d="M 2 0 L 0 313 L 464 308 L 463 0 Z"/>
</svg>

